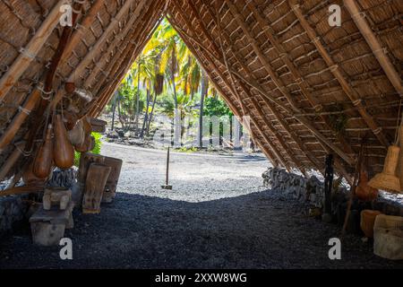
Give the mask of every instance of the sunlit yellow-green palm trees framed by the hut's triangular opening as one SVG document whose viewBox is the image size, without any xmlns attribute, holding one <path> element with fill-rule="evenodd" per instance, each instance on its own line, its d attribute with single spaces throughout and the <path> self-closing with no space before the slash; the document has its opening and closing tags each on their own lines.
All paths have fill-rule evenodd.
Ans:
<svg viewBox="0 0 403 287">
<path fill-rule="evenodd" d="M 204 98 L 203 114 L 231 117 L 233 114 L 227 108 L 225 101 L 219 99 L 217 91 L 208 81 L 208 77 L 202 71 L 197 59 L 186 47 L 174 27 L 167 19 L 164 19 L 141 51 L 140 56 L 133 63 L 118 89 L 119 121 L 124 129 L 129 130 L 134 127 L 134 119 L 140 118 L 141 121 L 144 118 L 143 114 L 136 115 L 137 110 L 141 113 L 148 112 L 150 114 L 155 91 L 161 91 L 156 87 L 161 88 L 161 83 L 162 93 L 157 96 L 153 112 L 174 117 L 174 110 L 177 107 L 181 112 L 182 119 L 187 116 L 198 117 L 199 110 L 193 109 L 193 107 L 200 103 L 201 82 L 204 82 L 206 84 L 203 86 L 208 87 L 208 89 L 203 91 L 203 94 L 207 92 Z M 139 91 L 141 101 L 139 109 L 137 109 L 136 99 Z M 146 111 L 147 94 L 150 94 L 150 106 Z M 113 100 L 109 103 L 108 110 L 111 111 L 112 107 Z M 118 109 L 116 109 L 117 112 Z M 186 125 L 192 126 L 193 124 L 197 125 L 198 122 Z"/>
</svg>

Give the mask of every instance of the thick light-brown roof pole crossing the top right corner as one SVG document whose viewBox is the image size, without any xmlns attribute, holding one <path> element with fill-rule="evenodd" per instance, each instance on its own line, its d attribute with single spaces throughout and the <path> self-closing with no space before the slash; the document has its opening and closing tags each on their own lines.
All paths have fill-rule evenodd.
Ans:
<svg viewBox="0 0 403 287">
<path fill-rule="evenodd" d="M 394 65 L 391 64 L 390 58 L 386 55 L 384 49 L 382 48 L 380 41 L 376 38 L 373 30 L 369 26 L 368 22 L 365 20 L 364 14 L 360 11 L 360 8 L 354 0 L 343 0 L 344 5 L 347 7 L 348 12 L 356 22 L 356 27 L 363 34 L 364 39 L 368 43 L 369 47 L 373 51 L 373 55 L 377 58 L 379 64 L 382 66 L 383 71 L 388 76 L 390 83 L 398 91 L 400 97 L 403 96 L 403 88 L 401 84 L 401 78 L 399 73 L 396 71 Z"/>
</svg>

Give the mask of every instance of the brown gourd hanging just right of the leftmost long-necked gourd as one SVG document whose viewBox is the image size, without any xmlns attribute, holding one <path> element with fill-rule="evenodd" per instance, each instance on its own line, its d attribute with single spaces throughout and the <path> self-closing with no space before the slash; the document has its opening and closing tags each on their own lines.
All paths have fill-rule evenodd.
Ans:
<svg viewBox="0 0 403 287">
<path fill-rule="evenodd" d="M 70 143 L 67 130 L 64 126 L 61 115 L 56 115 L 55 119 L 55 144 L 53 147 L 55 164 L 60 169 L 69 169 L 74 163 L 74 149 Z"/>
</svg>

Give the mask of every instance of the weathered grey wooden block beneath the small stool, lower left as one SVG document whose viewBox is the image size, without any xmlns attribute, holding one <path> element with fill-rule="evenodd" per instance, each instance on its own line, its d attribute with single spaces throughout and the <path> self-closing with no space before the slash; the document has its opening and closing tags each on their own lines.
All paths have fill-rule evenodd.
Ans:
<svg viewBox="0 0 403 287">
<path fill-rule="evenodd" d="M 64 210 L 51 206 L 45 210 L 43 205 L 30 217 L 32 241 L 41 246 L 58 245 L 64 237 L 64 230 L 73 228 L 73 202 L 69 202 Z"/>
</svg>

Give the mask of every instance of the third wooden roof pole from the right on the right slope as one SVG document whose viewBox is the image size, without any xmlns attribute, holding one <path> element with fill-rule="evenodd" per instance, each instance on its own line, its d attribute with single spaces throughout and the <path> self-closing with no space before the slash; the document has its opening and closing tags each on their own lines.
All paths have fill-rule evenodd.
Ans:
<svg viewBox="0 0 403 287">
<path fill-rule="evenodd" d="M 311 95 L 311 93 L 308 91 L 309 84 L 304 81 L 304 78 L 299 73 L 296 65 L 291 61 L 287 51 L 283 48 L 279 39 L 277 39 L 277 37 L 275 36 L 274 31 L 270 27 L 270 24 L 264 20 L 262 13 L 256 8 L 255 4 L 253 4 L 253 0 L 247 2 L 246 5 L 253 12 L 253 16 L 256 18 L 266 37 L 270 39 L 271 45 L 273 45 L 273 47 L 277 50 L 279 57 L 281 57 L 283 62 L 287 65 L 288 70 L 291 72 L 297 85 L 301 89 L 301 94 L 304 96 L 306 100 L 310 102 L 310 104 L 313 106 L 313 109 L 315 109 L 316 112 L 321 112 L 323 109 L 322 105 L 318 104 Z M 355 152 L 351 147 L 350 143 L 347 143 L 346 138 L 343 135 L 340 135 L 340 133 L 330 125 L 330 118 L 325 116 L 321 116 L 321 118 L 326 124 L 326 126 L 336 134 L 336 137 L 338 138 L 339 142 L 344 147 L 344 149 L 348 153 L 354 154 Z"/>
</svg>

